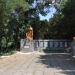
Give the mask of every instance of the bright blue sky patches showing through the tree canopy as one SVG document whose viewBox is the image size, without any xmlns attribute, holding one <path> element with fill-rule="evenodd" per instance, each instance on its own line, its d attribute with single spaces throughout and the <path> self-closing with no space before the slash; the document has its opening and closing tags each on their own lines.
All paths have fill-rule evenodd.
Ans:
<svg viewBox="0 0 75 75">
<path fill-rule="evenodd" d="M 33 6 L 33 8 L 36 8 L 36 6 L 37 6 L 36 0 L 32 4 L 32 6 Z M 52 18 L 54 13 L 56 12 L 56 9 L 55 9 L 54 6 L 50 6 L 50 7 L 44 8 L 44 12 L 47 12 L 47 15 L 43 16 L 42 14 L 39 13 L 40 20 L 47 20 L 47 21 L 49 21 L 50 18 Z"/>
</svg>

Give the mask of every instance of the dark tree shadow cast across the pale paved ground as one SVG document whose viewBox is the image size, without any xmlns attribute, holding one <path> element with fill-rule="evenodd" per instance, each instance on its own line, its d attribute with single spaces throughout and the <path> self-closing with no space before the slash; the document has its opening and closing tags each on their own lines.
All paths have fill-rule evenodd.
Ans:
<svg viewBox="0 0 75 75">
<path fill-rule="evenodd" d="M 37 63 L 43 63 L 47 68 L 54 68 L 61 74 L 75 75 L 75 59 L 66 54 L 40 55 Z"/>
</svg>

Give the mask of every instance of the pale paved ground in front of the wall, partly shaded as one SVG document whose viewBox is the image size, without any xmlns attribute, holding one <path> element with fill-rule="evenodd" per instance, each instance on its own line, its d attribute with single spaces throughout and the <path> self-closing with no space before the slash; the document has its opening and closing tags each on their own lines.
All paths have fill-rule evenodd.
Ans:
<svg viewBox="0 0 75 75">
<path fill-rule="evenodd" d="M 75 75 L 75 61 L 65 54 L 21 54 L 0 58 L 0 75 Z"/>
</svg>

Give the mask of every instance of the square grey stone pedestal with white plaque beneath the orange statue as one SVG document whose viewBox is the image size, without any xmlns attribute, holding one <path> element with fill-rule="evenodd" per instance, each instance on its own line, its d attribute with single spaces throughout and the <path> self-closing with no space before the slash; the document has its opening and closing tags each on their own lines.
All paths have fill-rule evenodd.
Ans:
<svg viewBox="0 0 75 75">
<path fill-rule="evenodd" d="M 27 40 L 22 40 L 21 41 L 21 52 L 33 52 L 34 47 L 33 47 L 33 42 L 32 41 L 27 41 Z"/>
</svg>

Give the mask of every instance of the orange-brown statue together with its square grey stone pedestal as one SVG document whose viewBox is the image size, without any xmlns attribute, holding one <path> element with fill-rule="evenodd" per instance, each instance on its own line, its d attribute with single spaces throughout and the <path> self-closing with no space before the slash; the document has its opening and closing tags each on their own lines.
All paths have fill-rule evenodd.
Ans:
<svg viewBox="0 0 75 75">
<path fill-rule="evenodd" d="M 33 28 L 28 26 L 25 33 L 25 39 L 21 40 L 21 51 L 22 52 L 32 52 L 34 51 L 33 44 Z"/>
</svg>

